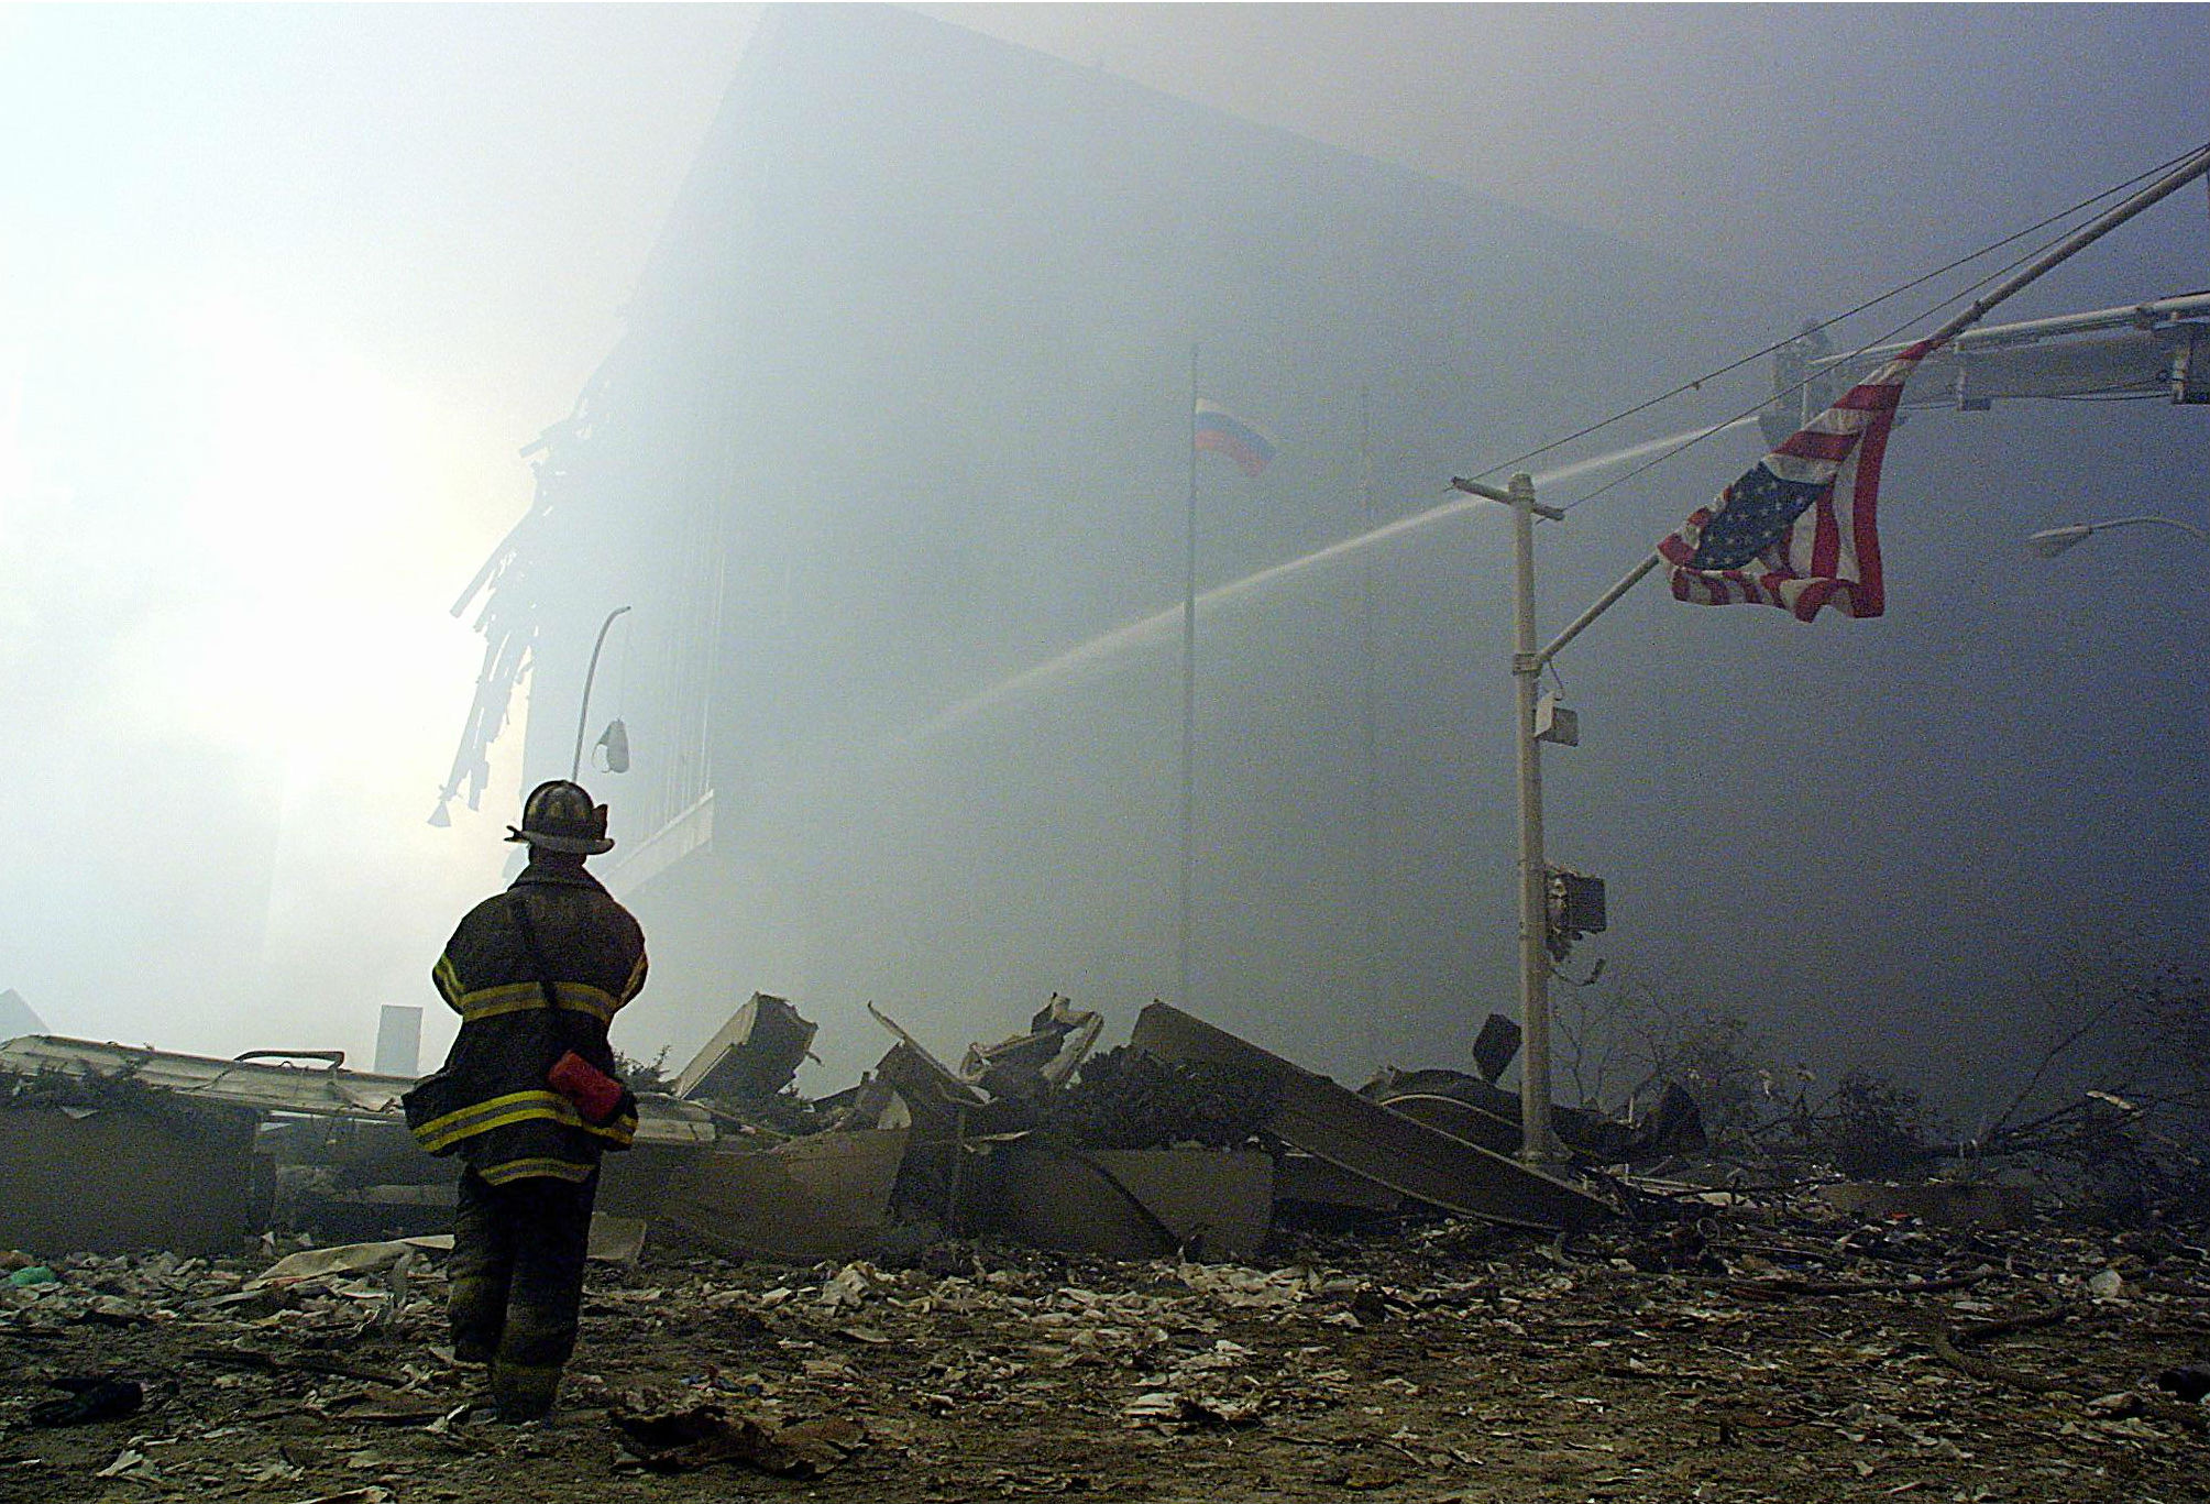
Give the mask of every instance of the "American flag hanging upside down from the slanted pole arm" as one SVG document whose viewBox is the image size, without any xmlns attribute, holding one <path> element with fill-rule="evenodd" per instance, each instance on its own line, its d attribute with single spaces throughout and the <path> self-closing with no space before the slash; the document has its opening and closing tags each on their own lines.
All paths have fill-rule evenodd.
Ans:
<svg viewBox="0 0 2210 1504">
<path fill-rule="evenodd" d="M 1821 606 L 1881 615 L 1881 458 L 1903 383 L 1938 343 L 1918 341 L 1850 387 L 1658 544 L 1673 566 L 1673 599 L 1761 602 L 1799 622 Z"/>
</svg>

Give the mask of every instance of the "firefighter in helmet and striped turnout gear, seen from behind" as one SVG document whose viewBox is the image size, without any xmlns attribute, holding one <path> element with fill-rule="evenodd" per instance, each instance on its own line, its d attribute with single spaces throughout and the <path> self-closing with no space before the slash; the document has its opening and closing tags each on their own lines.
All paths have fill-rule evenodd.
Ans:
<svg viewBox="0 0 2210 1504">
<path fill-rule="evenodd" d="M 508 832 L 530 860 L 460 920 L 431 971 L 460 1035 L 407 1093 L 407 1126 L 462 1163 L 453 1356 L 491 1365 L 502 1420 L 537 1420 L 575 1351 L 599 1155 L 636 1135 L 606 1026 L 645 984 L 645 936 L 583 871 L 614 847 L 606 805 L 541 783 Z"/>
</svg>

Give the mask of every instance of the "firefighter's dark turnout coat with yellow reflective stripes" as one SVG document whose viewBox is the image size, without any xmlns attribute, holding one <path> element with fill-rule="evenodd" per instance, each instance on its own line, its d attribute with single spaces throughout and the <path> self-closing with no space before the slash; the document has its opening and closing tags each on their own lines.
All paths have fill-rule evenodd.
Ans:
<svg viewBox="0 0 2210 1504">
<path fill-rule="evenodd" d="M 606 1026 L 645 984 L 643 929 L 597 878 L 533 863 L 460 920 L 431 978 L 460 1013 L 460 1037 L 444 1068 L 407 1093 L 422 1148 L 504 1186 L 586 1181 L 603 1150 L 630 1146 L 636 1097 L 623 1090 L 614 1117 L 592 1124 L 546 1082 L 568 1051 L 614 1075 Z"/>
</svg>

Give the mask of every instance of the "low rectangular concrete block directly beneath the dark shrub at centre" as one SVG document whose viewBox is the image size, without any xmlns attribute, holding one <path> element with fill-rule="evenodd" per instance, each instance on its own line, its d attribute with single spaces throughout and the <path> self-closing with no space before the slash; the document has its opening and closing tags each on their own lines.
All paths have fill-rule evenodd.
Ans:
<svg viewBox="0 0 2210 1504">
<path fill-rule="evenodd" d="M 1273 1225 L 1273 1159 L 1257 1150 L 990 1146 L 999 1225 L 1039 1247 L 1101 1258 L 1242 1258 Z"/>
</svg>

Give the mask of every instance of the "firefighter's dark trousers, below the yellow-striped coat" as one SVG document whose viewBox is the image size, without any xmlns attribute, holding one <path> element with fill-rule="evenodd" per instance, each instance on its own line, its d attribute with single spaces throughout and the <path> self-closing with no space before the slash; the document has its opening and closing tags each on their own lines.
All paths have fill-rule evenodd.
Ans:
<svg viewBox="0 0 2210 1504">
<path fill-rule="evenodd" d="M 453 1356 L 491 1365 L 491 1398 L 506 1420 L 552 1409 L 575 1351 L 583 1305 L 583 1247 L 599 1177 L 577 1186 L 530 1177 L 491 1186 L 460 1172 L 453 1216 Z"/>
</svg>

